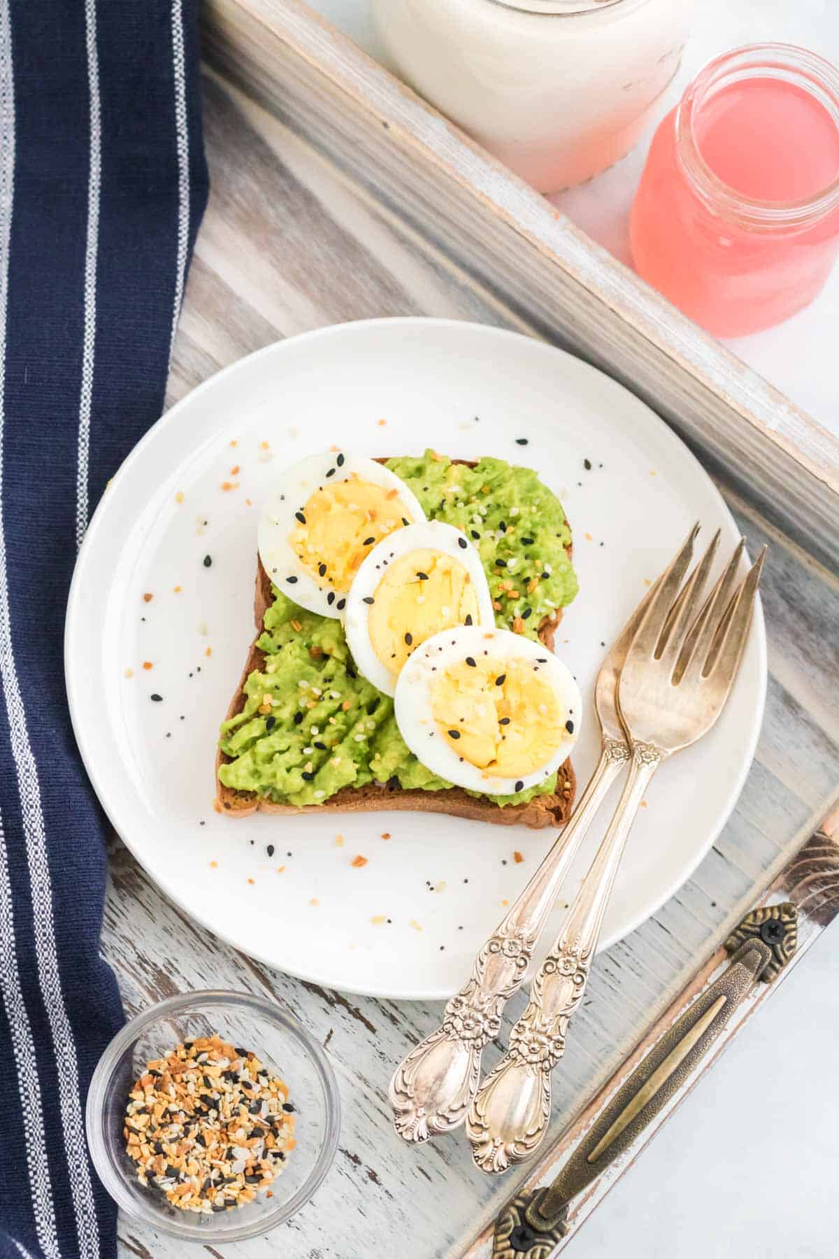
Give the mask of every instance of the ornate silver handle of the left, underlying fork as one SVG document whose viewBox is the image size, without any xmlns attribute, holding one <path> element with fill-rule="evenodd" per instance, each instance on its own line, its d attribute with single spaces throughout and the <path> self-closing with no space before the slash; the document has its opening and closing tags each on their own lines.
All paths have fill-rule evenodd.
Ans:
<svg viewBox="0 0 839 1259">
<path fill-rule="evenodd" d="M 481 1080 L 483 1047 L 498 1035 L 502 1010 L 523 982 L 567 869 L 629 757 L 623 740 L 604 739 L 571 820 L 478 953 L 469 981 L 448 1002 L 443 1024 L 394 1073 L 387 1095 L 394 1127 L 405 1141 L 428 1141 L 465 1119 Z"/>
</svg>

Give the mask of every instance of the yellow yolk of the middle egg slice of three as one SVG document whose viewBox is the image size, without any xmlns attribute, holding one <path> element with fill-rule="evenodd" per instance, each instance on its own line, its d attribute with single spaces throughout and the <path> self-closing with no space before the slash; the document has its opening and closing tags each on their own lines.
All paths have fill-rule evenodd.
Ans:
<svg viewBox="0 0 839 1259">
<path fill-rule="evenodd" d="M 394 560 L 367 613 L 372 650 L 392 674 L 431 635 L 463 624 L 478 624 L 478 596 L 469 570 L 435 550 L 409 551 Z"/>
</svg>

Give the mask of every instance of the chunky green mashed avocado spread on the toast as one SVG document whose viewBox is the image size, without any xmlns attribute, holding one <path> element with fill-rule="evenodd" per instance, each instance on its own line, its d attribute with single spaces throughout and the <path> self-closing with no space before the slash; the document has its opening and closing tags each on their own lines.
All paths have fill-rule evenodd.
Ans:
<svg viewBox="0 0 839 1259">
<path fill-rule="evenodd" d="M 492 458 L 469 468 L 433 451 L 387 467 L 430 520 L 472 538 L 501 628 L 536 638 L 545 616 L 574 599 L 577 580 L 565 550 L 571 530 L 536 472 Z M 220 747 L 233 758 L 219 771 L 221 782 L 298 806 L 371 782 L 450 787 L 408 750 L 392 700 L 356 671 L 341 623 L 299 608 L 277 588 L 273 594 L 258 640 L 264 671 L 250 674 L 243 711 L 221 726 Z M 517 796 L 489 798 L 521 803 L 555 787 L 553 774 Z"/>
</svg>

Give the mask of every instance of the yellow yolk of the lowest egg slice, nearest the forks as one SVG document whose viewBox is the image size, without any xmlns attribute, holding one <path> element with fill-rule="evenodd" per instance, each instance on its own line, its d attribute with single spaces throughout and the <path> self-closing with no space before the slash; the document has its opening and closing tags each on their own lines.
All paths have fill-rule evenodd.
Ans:
<svg viewBox="0 0 839 1259">
<path fill-rule="evenodd" d="M 564 706 L 528 660 L 467 656 L 431 684 L 431 713 L 453 752 L 489 777 L 525 778 L 567 737 Z"/>
</svg>

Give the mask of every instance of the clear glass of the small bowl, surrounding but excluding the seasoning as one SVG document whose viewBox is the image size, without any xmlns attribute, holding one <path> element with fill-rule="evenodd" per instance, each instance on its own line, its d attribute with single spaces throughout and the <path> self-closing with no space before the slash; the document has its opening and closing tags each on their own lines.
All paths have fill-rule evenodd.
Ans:
<svg viewBox="0 0 839 1259">
<path fill-rule="evenodd" d="M 171 1207 L 137 1180 L 122 1136 L 128 1090 L 146 1063 L 182 1040 L 219 1032 L 253 1050 L 288 1085 L 297 1146 L 267 1199 L 199 1215 Z M 291 1219 L 326 1176 L 338 1146 L 341 1103 L 330 1061 L 316 1040 L 273 1001 L 245 992 L 191 992 L 152 1006 L 117 1032 L 99 1059 L 87 1099 L 87 1137 L 99 1180 L 132 1219 L 184 1241 L 244 1241 Z"/>
</svg>

